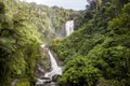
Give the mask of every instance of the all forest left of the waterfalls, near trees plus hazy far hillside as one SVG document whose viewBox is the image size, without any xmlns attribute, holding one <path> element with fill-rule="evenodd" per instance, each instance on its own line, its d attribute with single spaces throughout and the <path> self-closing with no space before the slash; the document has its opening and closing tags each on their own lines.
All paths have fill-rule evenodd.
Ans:
<svg viewBox="0 0 130 86">
<path fill-rule="evenodd" d="M 68 19 L 77 19 L 80 12 L 42 4 L 0 0 L 0 86 L 34 86 L 35 68 L 41 56 L 39 46 L 62 35 Z M 75 16 L 75 17 L 74 17 Z M 79 25 L 78 25 L 79 26 Z"/>
</svg>

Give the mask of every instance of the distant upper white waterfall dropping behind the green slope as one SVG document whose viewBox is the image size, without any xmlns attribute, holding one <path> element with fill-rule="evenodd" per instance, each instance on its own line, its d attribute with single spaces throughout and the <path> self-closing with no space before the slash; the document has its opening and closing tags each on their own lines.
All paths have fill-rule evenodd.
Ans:
<svg viewBox="0 0 130 86">
<path fill-rule="evenodd" d="M 65 24 L 66 37 L 74 32 L 74 20 L 68 20 Z"/>
</svg>

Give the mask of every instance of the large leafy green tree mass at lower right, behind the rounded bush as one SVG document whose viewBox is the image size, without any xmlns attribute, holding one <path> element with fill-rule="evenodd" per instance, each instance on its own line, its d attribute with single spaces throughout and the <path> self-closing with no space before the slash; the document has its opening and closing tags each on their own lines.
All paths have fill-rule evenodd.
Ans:
<svg viewBox="0 0 130 86">
<path fill-rule="evenodd" d="M 126 81 L 130 72 L 130 49 L 122 46 L 119 38 L 107 38 L 103 44 L 96 45 L 88 54 L 89 63 L 102 71 L 106 80 Z M 116 85 L 118 86 L 118 85 Z"/>
</svg>

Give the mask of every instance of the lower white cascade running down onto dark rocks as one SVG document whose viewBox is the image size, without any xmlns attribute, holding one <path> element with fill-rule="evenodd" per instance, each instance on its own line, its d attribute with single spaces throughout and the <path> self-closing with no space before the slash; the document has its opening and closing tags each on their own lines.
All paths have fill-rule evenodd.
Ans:
<svg viewBox="0 0 130 86">
<path fill-rule="evenodd" d="M 41 45 L 43 49 L 48 51 L 50 60 L 51 60 L 51 72 L 47 72 L 44 74 L 46 80 L 38 78 L 38 82 L 36 83 L 36 86 L 42 85 L 44 82 L 50 82 L 52 81 L 52 76 L 54 75 L 62 75 L 62 68 L 57 66 L 56 60 L 54 59 L 52 53 L 50 52 L 49 48 L 46 47 L 46 45 Z M 48 80 L 47 80 L 48 78 Z"/>
</svg>

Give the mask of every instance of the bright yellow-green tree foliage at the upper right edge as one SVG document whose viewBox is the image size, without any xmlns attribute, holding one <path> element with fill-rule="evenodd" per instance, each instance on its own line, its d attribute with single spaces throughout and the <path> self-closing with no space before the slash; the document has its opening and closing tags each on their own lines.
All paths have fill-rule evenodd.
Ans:
<svg viewBox="0 0 130 86">
<path fill-rule="evenodd" d="M 130 33 L 130 3 L 126 4 L 122 9 L 121 14 L 118 17 L 109 22 L 108 30 L 110 30 L 110 35 L 113 34 L 126 34 Z"/>
</svg>

